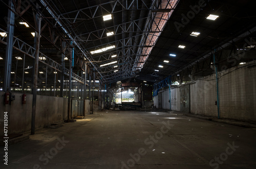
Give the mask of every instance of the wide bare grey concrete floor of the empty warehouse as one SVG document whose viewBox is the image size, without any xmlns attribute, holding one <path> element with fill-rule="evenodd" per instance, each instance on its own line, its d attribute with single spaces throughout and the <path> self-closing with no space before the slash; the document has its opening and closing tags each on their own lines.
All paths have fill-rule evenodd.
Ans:
<svg viewBox="0 0 256 169">
<path fill-rule="evenodd" d="M 181 113 L 100 111 L 37 130 L 8 157 L 0 168 L 256 168 L 256 130 Z"/>
</svg>

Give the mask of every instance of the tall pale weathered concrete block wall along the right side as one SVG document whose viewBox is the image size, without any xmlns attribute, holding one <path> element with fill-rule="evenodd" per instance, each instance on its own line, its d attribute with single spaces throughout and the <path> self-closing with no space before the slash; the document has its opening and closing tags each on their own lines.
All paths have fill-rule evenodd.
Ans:
<svg viewBox="0 0 256 169">
<path fill-rule="evenodd" d="M 256 122 L 256 61 L 221 71 L 219 76 L 220 117 Z M 187 85 L 187 84 L 186 84 Z M 218 117 L 215 74 L 189 85 L 190 113 Z M 169 110 L 169 90 L 154 97 L 158 108 Z M 161 99 L 159 96 L 161 95 Z M 180 111 L 180 87 L 171 89 L 172 110 Z"/>
</svg>

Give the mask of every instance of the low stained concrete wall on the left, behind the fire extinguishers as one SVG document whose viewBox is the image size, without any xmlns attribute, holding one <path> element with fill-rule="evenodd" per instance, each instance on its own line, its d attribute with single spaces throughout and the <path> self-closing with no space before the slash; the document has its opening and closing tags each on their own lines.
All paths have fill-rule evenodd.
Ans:
<svg viewBox="0 0 256 169">
<path fill-rule="evenodd" d="M 22 93 L 12 93 L 15 101 L 4 105 L 4 92 L 0 92 L 0 125 L 3 126 L 4 112 L 8 112 L 8 133 L 22 133 L 31 130 L 32 94 L 27 94 L 26 104 L 22 104 Z M 35 128 L 66 119 L 68 99 L 53 96 L 37 95 Z M 1 127 L 1 133 L 3 128 Z"/>
</svg>

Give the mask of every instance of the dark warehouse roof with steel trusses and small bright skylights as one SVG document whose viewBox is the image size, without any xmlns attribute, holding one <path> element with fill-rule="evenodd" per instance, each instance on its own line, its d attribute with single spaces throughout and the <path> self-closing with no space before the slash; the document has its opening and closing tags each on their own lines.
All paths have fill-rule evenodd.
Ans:
<svg viewBox="0 0 256 169">
<path fill-rule="evenodd" d="M 210 68 L 214 55 L 222 70 L 235 66 L 228 60 L 246 47 L 255 51 L 253 45 L 244 45 L 255 37 L 255 1 L 30 0 L 14 4 L 18 3 L 22 8 L 15 11 L 15 37 L 33 46 L 34 14 L 40 13 L 40 52 L 60 63 L 65 42 L 75 50 L 74 70 L 88 63 L 103 83 L 136 79 L 156 83 L 168 76 L 173 82 L 189 81 L 191 76 L 214 73 Z M 6 30 L 7 1 L 1 0 L 0 10 L 4 16 L 0 28 Z M 210 14 L 217 19 L 207 19 Z M 111 18 L 103 20 L 105 15 Z M 18 24 L 21 21 L 29 28 Z M 1 44 L 2 57 L 4 48 Z M 65 55 L 70 58 L 68 50 Z M 254 59 L 248 55 L 240 61 Z"/>
</svg>

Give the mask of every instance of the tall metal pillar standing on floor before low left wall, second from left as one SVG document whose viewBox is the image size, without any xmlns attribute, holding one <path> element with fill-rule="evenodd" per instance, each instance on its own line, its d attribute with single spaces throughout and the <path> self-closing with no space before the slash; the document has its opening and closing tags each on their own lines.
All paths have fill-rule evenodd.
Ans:
<svg viewBox="0 0 256 169">
<path fill-rule="evenodd" d="M 37 95 L 37 75 L 38 75 L 38 60 L 39 60 L 39 46 L 41 33 L 41 14 L 36 14 L 37 32 L 35 33 L 35 62 L 34 62 L 34 77 L 33 77 L 33 101 L 32 101 L 32 119 L 31 119 L 31 134 L 35 134 L 35 110 L 36 110 L 36 95 Z"/>
</svg>

